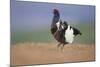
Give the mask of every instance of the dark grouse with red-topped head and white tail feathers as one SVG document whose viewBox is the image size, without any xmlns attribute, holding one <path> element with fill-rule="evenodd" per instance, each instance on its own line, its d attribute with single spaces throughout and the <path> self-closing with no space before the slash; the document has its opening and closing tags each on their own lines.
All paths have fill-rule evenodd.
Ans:
<svg viewBox="0 0 100 67">
<path fill-rule="evenodd" d="M 51 33 L 59 42 L 58 47 L 60 45 L 63 45 L 62 47 L 64 47 L 65 44 L 72 43 L 76 35 L 81 35 L 81 32 L 78 29 L 71 27 L 66 21 L 63 22 L 60 19 L 60 13 L 57 9 L 53 10 L 53 14 L 54 16 L 51 24 Z"/>
</svg>

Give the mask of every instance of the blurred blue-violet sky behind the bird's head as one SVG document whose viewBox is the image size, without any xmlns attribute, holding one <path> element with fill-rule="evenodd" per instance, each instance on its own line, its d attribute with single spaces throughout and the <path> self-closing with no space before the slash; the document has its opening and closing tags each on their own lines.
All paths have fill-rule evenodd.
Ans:
<svg viewBox="0 0 100 67">
<path fill-rule="evenodd" d="M 69 24 L 85 24 L 95 21 L 94 6 L 11 0 L 11 31 L 50 27 L 54 8 L 59 10 L 61 19 L 68 21 Z"/>
</svg>

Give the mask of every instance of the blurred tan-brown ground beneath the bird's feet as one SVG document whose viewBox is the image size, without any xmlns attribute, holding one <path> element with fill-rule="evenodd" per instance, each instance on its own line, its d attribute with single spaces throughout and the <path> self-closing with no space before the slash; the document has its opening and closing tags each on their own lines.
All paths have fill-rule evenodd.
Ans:
<svg viewBox="0 0 100 67">
<path fill-rule="evenodd" d="M 94 61 L 94 44 L 19 43 L 11 46 L 11 65 L 50 64 Z"/>
</svg>

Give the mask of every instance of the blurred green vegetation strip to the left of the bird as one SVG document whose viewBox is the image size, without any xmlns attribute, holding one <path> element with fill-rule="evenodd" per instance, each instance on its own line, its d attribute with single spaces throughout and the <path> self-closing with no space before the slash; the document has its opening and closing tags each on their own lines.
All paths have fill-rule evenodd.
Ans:
<svg viewBox="0 0 100 67">
<path fill-rule="evenodd" d="M 50 30 L 17 31 L 11 35 L 11 43 L 18 42 L 51 42 L 53 36 Z"/>
</svg>

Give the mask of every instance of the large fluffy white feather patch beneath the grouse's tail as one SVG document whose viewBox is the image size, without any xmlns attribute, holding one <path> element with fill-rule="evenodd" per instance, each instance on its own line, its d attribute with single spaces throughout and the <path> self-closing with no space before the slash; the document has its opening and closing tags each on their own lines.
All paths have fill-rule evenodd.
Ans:
<svg viewBox="0 0 100 67">
<path fill-rule="evenodd" d="M 68 25 L 68 28 L 65 31 L 65 39 L 66 42 L 72 43 L 74 40 L 74 35 L 73 35 L 73 29 L 70 29 L 70 26 Z"/>
</svg>

